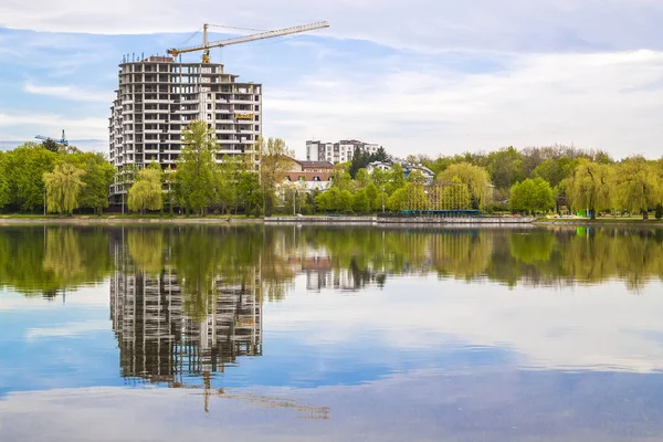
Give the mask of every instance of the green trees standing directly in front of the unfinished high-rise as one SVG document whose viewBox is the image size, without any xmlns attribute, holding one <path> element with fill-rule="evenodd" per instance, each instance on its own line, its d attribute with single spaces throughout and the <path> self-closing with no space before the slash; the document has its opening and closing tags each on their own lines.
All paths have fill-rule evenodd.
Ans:
<svg viewBox="0 0 663 442">
<path fill-rule="evenodd" d="M 162 171 L 159 165 L 144 170 L 120 171 L 127 182 L 128 206 L 133 211 L 162 210 L 168 206 L 189 213 L 271 214 L 276 206 L 278 187 L 291 167 L 292 156 L 278 138 L 260 139 L 256 145 L 260 173 L 248 155 L 225 156 L 217 162 L 218 146 L 203 122 L 192 123 L 183 131 L 183 148 L 176 170 Z M 133 185 L 131 185 L 133 183 Z M 166 187 L 169 191 L 162 192 Z"/>
</svg>

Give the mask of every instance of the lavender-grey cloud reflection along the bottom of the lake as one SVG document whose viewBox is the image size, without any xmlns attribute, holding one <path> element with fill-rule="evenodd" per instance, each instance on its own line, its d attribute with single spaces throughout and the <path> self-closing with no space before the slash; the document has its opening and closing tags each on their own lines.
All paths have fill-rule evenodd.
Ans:
<svg viewBox="0 0 663 442">
<path fill-rule="evenodd" d="M 663 432 L 663 383 L 656 375 L 412 371 L 359 386 L 254 387 L 227 394 L 211 397 L 206 413 L 200 390 L 12 393 L 0 401 L 7 418 L 0 420 L 0 438 L 24 441 L 36 432 L 53 442 L 644 442 Z M 278 401 L 284 406 L 274 406 Z M 302 419 L 307 407 L 327 408 L 329 419 Z"/>
</svg>

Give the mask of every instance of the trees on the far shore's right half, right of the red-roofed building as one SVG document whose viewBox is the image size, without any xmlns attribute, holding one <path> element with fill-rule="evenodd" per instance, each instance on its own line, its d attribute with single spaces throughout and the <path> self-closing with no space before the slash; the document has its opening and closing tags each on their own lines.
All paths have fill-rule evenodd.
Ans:
<svg viewBox="0 0 663 442">
<path fill-rule="evenodd" d="M 332 190 L 316 198 L 317 210 L 375 211 L 385 200 L 388 210 L 478 209 L 547 213 L 564 208 L 587 212 L 642 213 L 663 218 L 663 160 L 629 157 L 614 161 L 601 151 L 576 148 L 502 149 L 488 155 L 465 154 L 436 160 L 409 158 L 434 170 L 428 186 L 402 168 L 365 169 L 349 173 L 350 162 L 338 166 Z M 482 166 L 485 165 L 485 166 Z M 504 188 L 504 186 L 508 186 Z M 441 190 L 433 190 L 435 187 Z M 336 190 L 335 190 L 336 189 Z M 431 198 L 434 196 L 434 198 Z"/>
</svg>

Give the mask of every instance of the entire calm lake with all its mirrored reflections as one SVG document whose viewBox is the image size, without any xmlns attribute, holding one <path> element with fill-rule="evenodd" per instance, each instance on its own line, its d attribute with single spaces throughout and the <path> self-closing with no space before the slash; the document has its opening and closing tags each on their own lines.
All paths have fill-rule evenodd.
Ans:
<svg viewBox="0 0 663 442">
<path fill-rule="evenodd" d="M 0 440 L 659 441 L 663 230 L 0 228 Z"/>
</svg>

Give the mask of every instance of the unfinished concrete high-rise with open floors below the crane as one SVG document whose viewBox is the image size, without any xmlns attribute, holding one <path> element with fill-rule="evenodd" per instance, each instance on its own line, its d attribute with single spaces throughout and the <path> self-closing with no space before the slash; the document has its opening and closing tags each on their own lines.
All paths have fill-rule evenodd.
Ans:
<svg viewBox="0 0 663 442">
<path fill-rule="evenodd" d="M 262 135 L 262 85 L 241 83 L 222 64 L 179 63 L 170 56 L 150 56 L 119 64 L 118 88 L 108 120 L 109 160 L 123 170 L 152 161 L 176 168 L 182 129 L 203 120 L 213 130 L 224 155 L 246 155 L 257 170 L 255 141 Z M 124 187 L 110 188 L 118 203 Z"/>
</svg>

